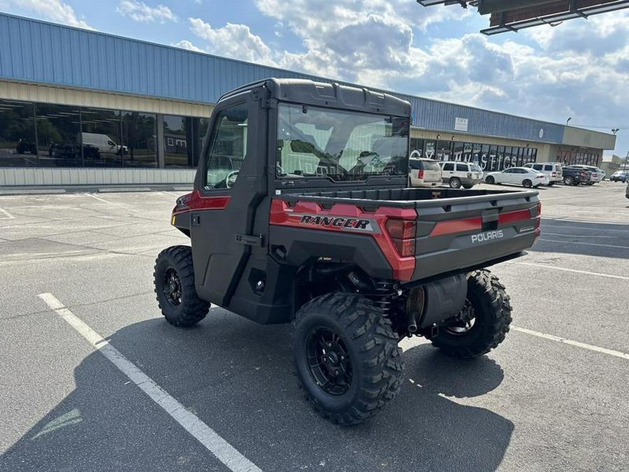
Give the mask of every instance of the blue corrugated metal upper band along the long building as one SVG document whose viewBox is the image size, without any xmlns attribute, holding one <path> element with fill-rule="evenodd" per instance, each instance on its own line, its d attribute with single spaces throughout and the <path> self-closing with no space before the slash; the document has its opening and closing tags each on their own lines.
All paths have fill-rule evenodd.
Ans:
<svg viewBox="0 0 629 472">
<path fill-rule="evenodd" d="M 234 87 L 268 77 L 331 81 L 0 13 L 0 78 L 216 103 Z M 468 134 L 549 143 L 563 138 L 562 124 L 389 93 L 410 101 L 417 127 L 460 133 L 454 129 L 459 117 L 468 119 Z"/>
</svg>

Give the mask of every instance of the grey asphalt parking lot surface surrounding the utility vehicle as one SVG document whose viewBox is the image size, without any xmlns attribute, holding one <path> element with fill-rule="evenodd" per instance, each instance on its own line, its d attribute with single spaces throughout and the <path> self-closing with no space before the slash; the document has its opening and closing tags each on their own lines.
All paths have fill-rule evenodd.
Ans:
<svg viewBox="0 0 629 472">
<path fill-rule="evenodd" d="M 403 341 L 398 398 L 352 428 L 303 400 L 289 327 L 221 308 L 194 329 L 162 320 L 154 258 L 188 241 L 177 193 L 0 196 L 0 470 L 626 471 L 624 191 L 540 189 L 542 237 L 492 269 L 514 308 L 505 342 L 463 362 Z M 173 419 L 188 413 L 205 443 Z"/>
</svg>

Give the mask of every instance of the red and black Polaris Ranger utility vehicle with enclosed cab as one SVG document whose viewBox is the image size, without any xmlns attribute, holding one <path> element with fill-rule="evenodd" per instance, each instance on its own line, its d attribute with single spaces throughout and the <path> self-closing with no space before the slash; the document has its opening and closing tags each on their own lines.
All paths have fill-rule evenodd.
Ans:
<svg viewBox="0 0 629 472">
<path fill-rule="evenodd" d="M 171 223 L 190 237 L 157 257 L 175 326 L 210 302 L 293 324 L 294 363 L 316 410 L 362 422 L 402 384 L 398 341 L 489 352 L 509 331 L 505 288 L 484 268 L 540 234 L 537 192 L 405 188 L 410 103 L 310 80 L 222 96 L 194 192 Z"/>
</svg>

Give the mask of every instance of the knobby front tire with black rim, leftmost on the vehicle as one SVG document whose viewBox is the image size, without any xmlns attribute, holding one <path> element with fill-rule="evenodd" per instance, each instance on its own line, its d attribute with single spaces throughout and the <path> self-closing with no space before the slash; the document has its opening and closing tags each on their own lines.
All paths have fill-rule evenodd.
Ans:
<svg viewBox="0 0 629 472">
<path fill-rule="evenodd" d="M 153 273 L 157 303 L 166 321 L 178 327 L 192 326 L 208 314 L 210 303 L 196 295 L 192 250 L 171 246 L 155 259 Z"/>
</svg>

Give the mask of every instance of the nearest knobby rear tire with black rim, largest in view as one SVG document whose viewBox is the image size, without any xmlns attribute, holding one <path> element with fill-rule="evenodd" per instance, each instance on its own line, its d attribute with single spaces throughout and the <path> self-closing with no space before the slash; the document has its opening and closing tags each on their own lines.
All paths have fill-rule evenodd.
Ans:
<svg viewBox="0 0 629 472">
<path fill-rule="evenodd" d="M 402 350 L 391 321 L 369 299 L 326 294 L 293 322 L 300 386 L 317 413 L 359 424 L 382 410 L 402 385 Z"/>
</svg>

